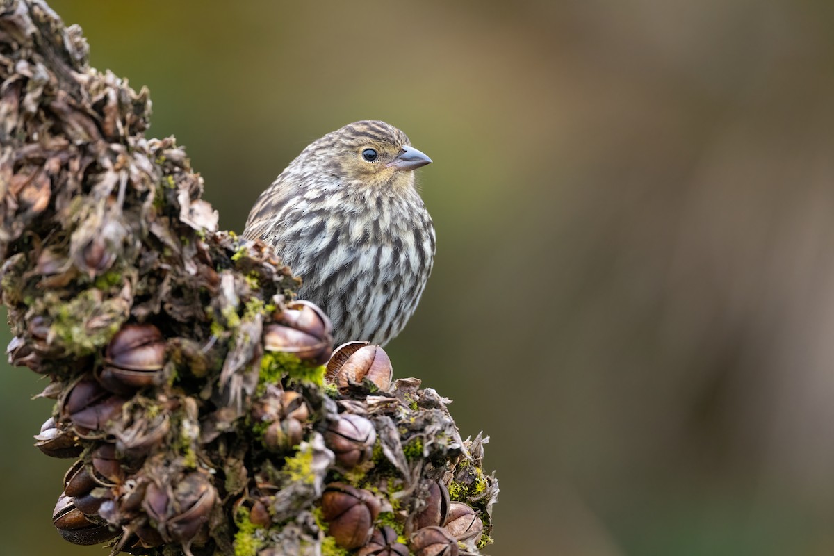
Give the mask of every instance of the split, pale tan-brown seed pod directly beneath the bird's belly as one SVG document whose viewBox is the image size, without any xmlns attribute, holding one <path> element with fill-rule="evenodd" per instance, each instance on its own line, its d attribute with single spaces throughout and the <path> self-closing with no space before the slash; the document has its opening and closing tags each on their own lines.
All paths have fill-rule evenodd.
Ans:
<svg viewBox="0 0 834 556">
<path fill-rule="evenodd" d="M 350 389 L 351 383 L 361 383 L 364 379 L 387 391 L 394 375 L 388 353 L 378 345 L 358 346 L 359 343 L 344 343 L 336 349 L 327 363 L 328 377 L 343 393 Z M 346 353 L 349 355 L 345 358 Z"/>
</svg>

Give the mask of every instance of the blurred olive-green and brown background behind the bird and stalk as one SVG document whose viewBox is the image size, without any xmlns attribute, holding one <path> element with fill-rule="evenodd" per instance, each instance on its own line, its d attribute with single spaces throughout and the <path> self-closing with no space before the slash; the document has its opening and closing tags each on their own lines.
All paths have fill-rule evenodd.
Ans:
<svg viewBox="0 0 834 556">
<path fill-rule="evenodd" d="M 834 3 L 49 3 L 224 228 L 344 123 L 434 158 L 389 353 L 492 438 L 488 553 L 834 553 Z M 105 554 L 50 524 L 41 388 L 0 369 L 0 551 Z"/>
</svg>

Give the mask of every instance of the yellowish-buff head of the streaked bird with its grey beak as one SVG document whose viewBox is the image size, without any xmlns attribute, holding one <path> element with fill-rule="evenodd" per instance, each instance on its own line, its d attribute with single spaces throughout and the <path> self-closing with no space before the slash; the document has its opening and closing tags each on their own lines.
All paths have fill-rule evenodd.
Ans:
<svg viewBox="0 0 834 556">
<path fill-rule="evenodd" d="M 330 151 L 324 167 L 359 188 L 412 188 L 413 171 L 431 162 L 405 133 L 375 120 L 349 123 L 320 141 Z"/>
</svg>

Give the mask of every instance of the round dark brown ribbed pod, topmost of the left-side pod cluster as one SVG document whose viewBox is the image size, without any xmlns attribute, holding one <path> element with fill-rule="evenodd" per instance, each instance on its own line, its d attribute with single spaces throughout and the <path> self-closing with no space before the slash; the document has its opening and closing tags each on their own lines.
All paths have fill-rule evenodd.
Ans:
<svg viewBox="0 0 834 556">
<path fill-rule="evenodd" d="M 108 364 L 98 370 L 96 378 L 104 388 L 125 395 L 151 386 L 162 376 L 166 347 L 153 324 L 125 324 L 108 343 Z"/>
</svg>

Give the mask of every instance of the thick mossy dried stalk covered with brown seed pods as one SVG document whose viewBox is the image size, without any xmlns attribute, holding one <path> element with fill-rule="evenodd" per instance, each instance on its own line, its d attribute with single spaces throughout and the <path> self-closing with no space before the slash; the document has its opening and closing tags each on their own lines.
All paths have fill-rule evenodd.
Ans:
<svg viewBox="0 0 834 556">
<path fill-rule="evenodd" d="M 9 358 L 75 458 L 53 524 L 113 553 L 446 554 L 490 543 L 495 477 L 449 400 L 392 381 L 260 242 L 217 230 L 150 102 L 41 0 L 0 3 Z M 58 493 L 56 493 L 58 495 Z"/>
</svg>

